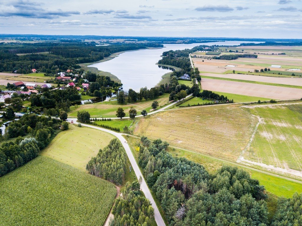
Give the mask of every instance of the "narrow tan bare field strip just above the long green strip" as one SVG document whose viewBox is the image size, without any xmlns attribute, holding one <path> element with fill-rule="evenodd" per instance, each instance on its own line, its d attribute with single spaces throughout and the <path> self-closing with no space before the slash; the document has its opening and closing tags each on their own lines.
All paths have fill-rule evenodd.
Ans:
<svg viewBox="0 0 302 226">
<path fill-rule="evenodd" d="M 301 77 L 269 77 L 269 76 L 260 76 L 260 75 L 240 75 L 240 74 L 212 74 L 212 73 L 202 73 L 201 75 L 211 76 L 211 77 L 219 77 L 219 78 L 233 78 L 233 79 L 241 79 L 247 81 L 259 81 L 259 82 L 270 82 L 277 84 L 287 84 L 287 85 L 298 85 L 302 86 L 302 78 Z"/>
</svg>

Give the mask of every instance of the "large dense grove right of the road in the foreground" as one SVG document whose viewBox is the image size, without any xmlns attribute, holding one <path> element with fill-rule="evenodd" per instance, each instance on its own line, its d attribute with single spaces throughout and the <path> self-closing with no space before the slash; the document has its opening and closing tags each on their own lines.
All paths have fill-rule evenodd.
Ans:
<svg viewBox="0 0 302 226">
<path fill-rule="evenodd" d="M 211 175 L 200 164 L 172 157 L 166 142 L 142 137 L 141 143 L 139 165 L 169 225 L 266 225 L 265 189 L 246 171 L 223 166 Z"/>
</svg>

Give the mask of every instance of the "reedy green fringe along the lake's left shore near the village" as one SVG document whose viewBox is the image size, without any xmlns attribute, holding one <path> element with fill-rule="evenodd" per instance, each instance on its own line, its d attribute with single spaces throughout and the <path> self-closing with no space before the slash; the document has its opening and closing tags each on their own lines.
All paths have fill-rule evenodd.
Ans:
<svg viewBox="0 0 302 226">
<path fill-rule="evenodd" d="M 150 47 L 150 48 L 146 48 L 146 49 L 163 49 L 165 47 L 162 48 L 155 48 L 155 47 Z M 105 72 L 105 71 L 101 71 L 96 67 L 88 67 L 89 65 L 92 64 L 96 64 L 96 63 L 101 63 L 101 62 L 105 62 L 108 60 L 112 60 L 114 58 L 116 58 L 117 56 L 119 56 L 121 53 L 125 53 L 125 52 L 130 52 L 130 51 L 138 51 L 138 50 L 143 50 L 143 49 L 133 49 L 133 50 L 126 50 L 126 51 L 121 51 L 121 52 L 117 52 L 117 53 L 112 53 L 110 54 L 110 56 L 105 57 L 104 59 L 101 59 L 99 61 L 96 62 L 90 62 L 90 63 L 83 63 L 83 64 L 79 64 L 81 66 L 81 68 L 83 68 L 84 70 L 90 70 L 98 75 L 103 75 L 103 76 L 109 76 L 112 80 L 118 82 L 118 83 L 122 83 L 121 80 L 116 76 L 111 74 L 110 72 Z"/>
</svg>

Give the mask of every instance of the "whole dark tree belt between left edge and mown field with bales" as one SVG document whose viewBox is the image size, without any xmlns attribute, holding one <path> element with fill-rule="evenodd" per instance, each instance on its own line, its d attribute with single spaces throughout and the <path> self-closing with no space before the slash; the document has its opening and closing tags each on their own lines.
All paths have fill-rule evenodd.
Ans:
<svg viewBox="0 0 302 226">
<path fill-rule="evenodd" d="M 25 114 L 18 121 L 11 122 L 0 146 L 0 176 L 36 158 L 39 151 L 46 147 L 61 127 L 62 120 Z M 29 138 L 24 138 L 29 136 Z"/>
</svg>

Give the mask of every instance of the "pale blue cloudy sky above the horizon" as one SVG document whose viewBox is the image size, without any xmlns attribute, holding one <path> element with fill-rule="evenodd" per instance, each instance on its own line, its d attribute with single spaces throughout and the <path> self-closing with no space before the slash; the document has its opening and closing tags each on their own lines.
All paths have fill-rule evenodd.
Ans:
<svg viewBox="0 0 302 226">
<path fill-rule="evenodd" d="M 0 33 L 302 38 L 301 0 L 0 0 Z"/>
</svg>

